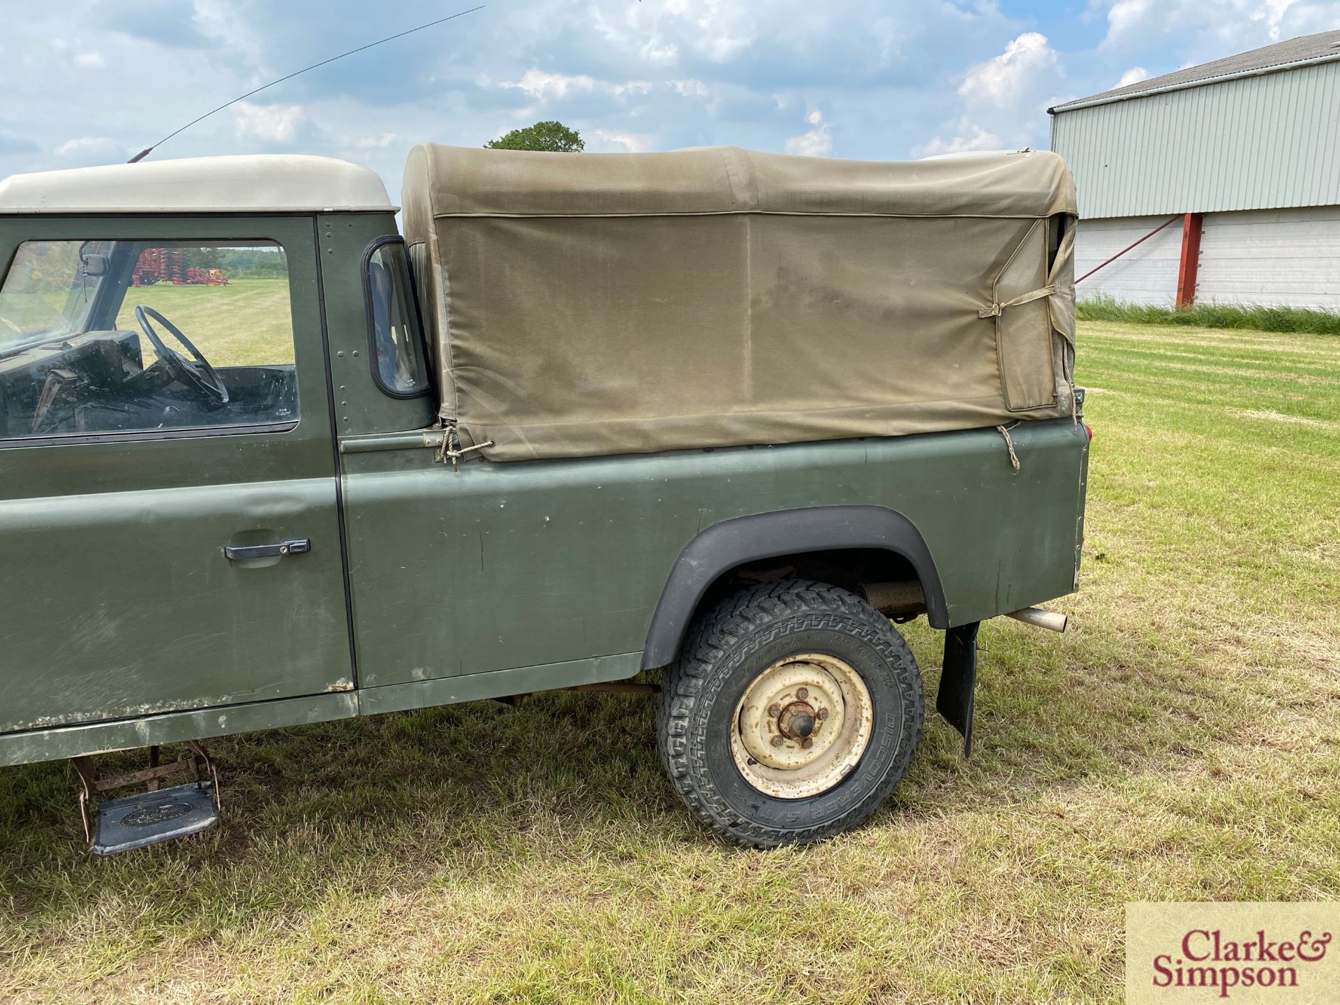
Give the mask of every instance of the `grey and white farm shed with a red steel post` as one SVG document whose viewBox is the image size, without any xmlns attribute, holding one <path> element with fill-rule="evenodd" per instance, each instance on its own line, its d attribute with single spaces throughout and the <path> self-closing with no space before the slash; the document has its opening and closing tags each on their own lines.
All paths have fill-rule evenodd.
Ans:
<svg viewBox="0 0 1340 1005">
<path fill-rule="evenodd" d="M 1081 299 L 1340 310 L 1340 31 L 1048 111 Z"/>
</svg>

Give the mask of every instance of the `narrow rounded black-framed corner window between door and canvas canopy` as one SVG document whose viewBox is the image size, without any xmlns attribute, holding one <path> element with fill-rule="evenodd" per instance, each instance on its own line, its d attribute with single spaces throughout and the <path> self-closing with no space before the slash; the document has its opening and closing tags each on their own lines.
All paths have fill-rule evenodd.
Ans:
<svg viewBox="0 0 1340 1005">
<path fill-rule="evenodd" d="M 429 390 L 423 367 L 423 334 L 405 241 L 390 239 L 367 253 L 367 330 L 373 378 L 395 398 L 414 398 Z"/>
</svg>

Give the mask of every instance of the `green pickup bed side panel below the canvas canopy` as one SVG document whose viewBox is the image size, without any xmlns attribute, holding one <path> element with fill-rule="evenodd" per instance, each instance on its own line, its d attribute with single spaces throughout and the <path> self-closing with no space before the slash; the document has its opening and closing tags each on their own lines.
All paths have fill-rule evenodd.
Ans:
<svg viewBox="0 0 1340 1005">
<path fill-rule="evenodd" d="M 405 437 L 346 452 L 359 686 L 639 653 L 685 545 L 777 509 L 903 513 L 949 624 L 1072 592 L 1084 427 L 1025 422 L 1010 437 L 1017 472 L 994 429 L 458 472 Z"/>
</svg>

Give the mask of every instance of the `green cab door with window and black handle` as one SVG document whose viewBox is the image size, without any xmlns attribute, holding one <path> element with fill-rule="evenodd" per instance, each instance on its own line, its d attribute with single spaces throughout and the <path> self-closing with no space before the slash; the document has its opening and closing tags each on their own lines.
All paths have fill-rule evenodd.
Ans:
<svg viewBox="0 0 1340 1005">
<path fill-rule="evenodd" d="M 352 689 L 311 216 L 0 218 L 0 732 Z"/>
</svg>

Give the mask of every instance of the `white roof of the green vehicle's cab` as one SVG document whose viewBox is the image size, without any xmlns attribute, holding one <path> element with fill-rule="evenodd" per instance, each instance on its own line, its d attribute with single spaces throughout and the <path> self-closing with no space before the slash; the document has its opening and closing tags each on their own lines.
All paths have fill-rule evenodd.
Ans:
<svg viewBox="0 0 1340 1005">
<path fill-rule="evenodd" d="M 331 157 L 253 154 L 13 174 L 5 213 L 394 212 L 375 173 Z"/>
</svg>

